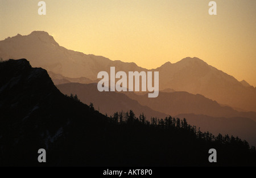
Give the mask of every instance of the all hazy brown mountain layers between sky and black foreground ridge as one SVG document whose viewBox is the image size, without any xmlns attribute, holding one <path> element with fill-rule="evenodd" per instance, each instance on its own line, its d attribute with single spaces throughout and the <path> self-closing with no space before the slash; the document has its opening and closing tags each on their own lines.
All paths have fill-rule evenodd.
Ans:
<svg viewBox="0 0 256 178">
<path fill-rule="evenodd" d="M 137 116 L 144 113 L 148 120 L 185 116 L 201 130 L 238 135 L 256 145 L 252 136 L 256 135 L 256 89 L 199 58 L 187 57 L 150 70 L 159 71 L 160 92 L 157 98 L 149 99 L 145 92 L 99 92 L 96 84 L 98 72 L 109 73 L 111 66 L 126 73 L 148 69 L 133 62 L 112 61 L 65 49 L 47 32 L 18 34 L 0 41 L 0 57 L 27 58 L 32 67 L 46 69 L 63 94 L 76 94 L 83 103 L 93 103 L 104 115 L 131 109 Z"/>
</svg>

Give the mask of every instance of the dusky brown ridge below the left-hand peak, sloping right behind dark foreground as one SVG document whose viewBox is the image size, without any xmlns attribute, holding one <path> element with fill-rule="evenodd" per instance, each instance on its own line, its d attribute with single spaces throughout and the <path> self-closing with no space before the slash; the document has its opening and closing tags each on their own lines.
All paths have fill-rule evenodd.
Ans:
<svg viewBox="0 0 256 178">
<path fill-rule="evenodd" d="M 154 111 L 151 108 L 142 106 L 137 100 L 132 100 L 125 94 L 117 92 L 100 92 L 97 89 L 97 83 L 81 84 L 81 83 L 66 83 L 56 86 L 63 94 L 77 95 L 82 103 L 93 103 L 96 109 L 100 109 L 101 113 L 113 115 L 114 112 L 127 112 L 130 109 L 134 111 L 135 115 L 144 113 L 148 120 L 151 117 L 164 118 L 168 115 Z"/>
</svg>

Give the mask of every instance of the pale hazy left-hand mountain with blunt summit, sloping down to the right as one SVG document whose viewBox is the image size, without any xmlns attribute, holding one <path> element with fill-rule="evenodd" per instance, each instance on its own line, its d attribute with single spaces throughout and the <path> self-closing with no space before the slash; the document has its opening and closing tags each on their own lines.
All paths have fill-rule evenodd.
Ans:
<svg viewBox="0 0 256 178">
<path fill-rule="evenodd" d="M 27 36 L 18 34 L 0 41 L 0 56 L 4 60 L 27 58 L 32 67 L 42 67 L 69 78 L 86 77 L 96 80 L 98 72 L 109 72 L 110 66 L 122 71 L 142 69 L 135 63 L 111 61 L 102 56 L 65 49 L 47 32 L 42 31 L 34 31 Z"/>
</svg>

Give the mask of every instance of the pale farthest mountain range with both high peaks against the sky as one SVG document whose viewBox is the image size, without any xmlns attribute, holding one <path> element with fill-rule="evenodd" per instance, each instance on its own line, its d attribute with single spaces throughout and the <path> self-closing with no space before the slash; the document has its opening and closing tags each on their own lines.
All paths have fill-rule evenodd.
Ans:
<svg viewBox="0 0 256 178">
<path fill-rule="evenodd" d="M 4 60 L 27 58 L 31 66 L 43 67 L 67 78 L 97 80 L 98 72 L 109 73 L 111 66 L 126 73 L 148 71 L 134 62 L 112 61 L 102 56 L 65 49 L 43 31 L 34 31 L 26 36 L 18 34 L 0 41 L 0 56 Z M 254 87 L 248 86 L 245 81 L 239 82 L 199 58 L 187 57 L 176 63 L 167 62 L 152 71 L 159 71 L 160 90 L 172 88 L 175 91 L 200 94 L 240 111 L 256 111 Z"/>
</svg>

